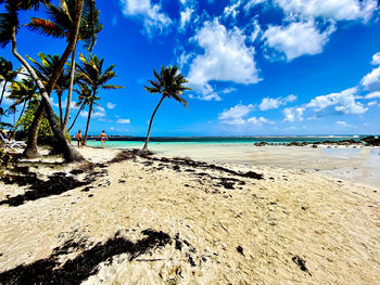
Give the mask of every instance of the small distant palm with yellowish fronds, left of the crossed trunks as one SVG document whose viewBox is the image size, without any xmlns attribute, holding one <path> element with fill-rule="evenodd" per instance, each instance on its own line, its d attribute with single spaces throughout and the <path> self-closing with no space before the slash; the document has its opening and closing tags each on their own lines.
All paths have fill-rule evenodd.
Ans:
<svg viewBox="0 0 380 285">
<path fill-rule="evenodd" d="M 21 81 L 14 81 L 11 86 L 10 99 L 15 102 L 10 106 L 11 109 L 16 108 L 17 105 L 23 104 L 18 119 L 14 122 L 13 132 L 17 130 L 21 118 L 23 117 L 26 105 L 39 96 L 36 93 L 37 86 L 31 79 L 22 79 Z"/>
</svg>

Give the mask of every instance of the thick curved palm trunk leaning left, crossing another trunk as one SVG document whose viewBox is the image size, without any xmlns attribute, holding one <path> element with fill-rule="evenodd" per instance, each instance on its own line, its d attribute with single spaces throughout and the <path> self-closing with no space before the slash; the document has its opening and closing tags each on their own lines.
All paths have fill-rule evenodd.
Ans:
<svg viewBox="0 0 380 285">
<path fill-rule="evenodd" d="M 81 3 L 81 5 L 80 5 L 80 3 Z M 79 18 L 80 18 L 81 8 L 83 8 L 83 0 L 79 0 L 78 7 L 80 7 L 80 11 L 79 11 Z M 14 11 L 13 11 L 13 14 L 14 14 L 13 16 L 17 16 L 16 12 L 14 12 Z M 51 104 L 49 102 L 49 94 L 50 93 L 47 92 L 47 90 L 45 89 L 41 80 L 38 78 L 38 76 L 36 75 L 35 70 L 31 68 L 31 66 L 25 61 L 25 59 L 23 56 L 21 56 L 18 54 L 18 52 L 17 52 L 17 43 L 16 43 L 16 27 L 15 26 L 12 27 L 12 53 L 22 63 L 22 65 L 28 70 L 28 73 L 30 74 L 31 78 L 37 83 L 38 89 L 41 91 L 41 95 L 42 95 L 42 101 L 41 101 L 42 104 L 41 105 L 45 105 L 50 127 L 51 127 L 51 129 L 52 129 L 52 131 L 54 133 L 55 139 L 59 142 L 59 151 L 63 154 L 64 159 L 67 163 L 84 160 L 84 157 L 68 144 L 66 138 L 64 137 L 64 134 L 61 131 L 61 128 L 59 128 L 59 126 L 58 126 L 58 124 L 55 121 L 55 118 L 54 118 L 53 108 L 51 107 Z M 68 53 L 68 55 L 69 55 L 69 53 Z M 67 57 L 68 57 L 68 55 L 67 55 Z M 61 60 L 62 60 L 62 57 L 61 57 Z M 62 68 L 63 68 L 63 65 L 62 65 Z M 61 72 L 62 72 L 62 69 L 61 69 Z M 61 72 L 59 72 L 58 74 L 60 75 Z M 56 77 L 56 79 L 58 79 L 58 77 Z M 55 79 L 55 81 L 51 81 L 52 85 L 55 85 L 56 79 Z M 48 90 L 49 90 L 49 88 L 48 88 Z M 51 92 L 51 90 L 50 90 L 50 92 Z M 38 129 L 37 129 L 37 131 L 38 131 Z M 36 138 L 36 142 L 37 142 L 37 138 Z"/>
</svg>

